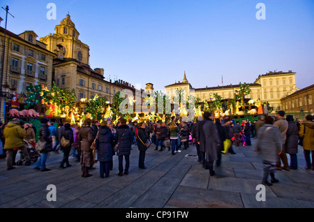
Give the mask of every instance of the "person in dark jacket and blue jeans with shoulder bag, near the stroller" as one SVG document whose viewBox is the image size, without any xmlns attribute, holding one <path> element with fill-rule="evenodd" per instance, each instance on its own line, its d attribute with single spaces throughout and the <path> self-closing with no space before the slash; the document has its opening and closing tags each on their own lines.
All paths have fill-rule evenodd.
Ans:
<svg viewBox="0 0 314 222">
<path fill-rule="evenodd" d="M 41 172 L 49 171 L 50 169 L 46 168 L 46 160 L 48 153 L 52 151 L 52 139 L 50 137 L 50 130 L 48 126 L 48 119 L 41 120 L 41 127 L 39 131 L 39 140 L 42 142 L 47 142 L 46 147 L 43 151 L 40 151 L 40 159 L 36 162 L 36 170 L 41 170 Z"/>
</svg>

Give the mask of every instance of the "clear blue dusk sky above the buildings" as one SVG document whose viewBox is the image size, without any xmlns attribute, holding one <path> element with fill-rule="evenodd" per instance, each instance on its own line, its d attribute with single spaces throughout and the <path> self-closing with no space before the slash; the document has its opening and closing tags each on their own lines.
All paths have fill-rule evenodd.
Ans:
<svg viewBox="0 0 314 222">
<path fill-rule="evenodd" d="M 57 20 L 47 20 L 47 3 Z M 266 20 L 257 20 L 257 3 Z M 8 30 L 40 37 L 70 13 L 80 40 L 90 47 L 91 68 L 105 77 L 154 84 L 181 81 L 195 88 L 253 83 L 269 71 L 296 72 L 296 87 L 314 83 L 312 0 L 0 0 L 9 6 Z M 0 8 L 0 17 L 5 19 Z M 1 22 L 4 27 L 4 21 Z"/>
</svg>

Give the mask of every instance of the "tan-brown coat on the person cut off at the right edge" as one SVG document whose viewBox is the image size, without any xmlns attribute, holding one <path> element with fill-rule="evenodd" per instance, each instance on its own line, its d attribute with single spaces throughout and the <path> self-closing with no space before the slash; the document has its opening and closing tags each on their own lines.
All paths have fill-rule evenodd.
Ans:
<svg viewBox="0 0 314 222">
<path fill-rule="evenodd" d="M 305 127 L 305 133 L 304 133 Z M 303 137 L 303 149 L 314 150 L 314 122 L 305 121 L 300 126 L 299 137 Z"/>
</svg>

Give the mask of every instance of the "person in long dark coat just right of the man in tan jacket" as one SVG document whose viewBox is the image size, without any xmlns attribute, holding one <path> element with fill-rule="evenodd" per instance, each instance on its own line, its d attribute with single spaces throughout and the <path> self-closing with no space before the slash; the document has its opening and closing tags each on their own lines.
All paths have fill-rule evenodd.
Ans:
<svg viewBox="0 0 314 222">
<path fill-rule="evenodd" d="M 289 168 L 292 170 L 297 170 L 299 130 L 298 130 L 297 124 L 295 124 L 295 121 L 292 115 L 287 115 L 285 120 L 287 120 L 288 122 L 287 138 L 285 140 L 285 152 L 290 155 Z"/>
</svg>

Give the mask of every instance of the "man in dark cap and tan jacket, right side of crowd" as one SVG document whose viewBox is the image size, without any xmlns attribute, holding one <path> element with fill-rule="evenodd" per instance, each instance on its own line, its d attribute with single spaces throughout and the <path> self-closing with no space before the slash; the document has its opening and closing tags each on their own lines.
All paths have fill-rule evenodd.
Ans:
<svg viewBox="0 0 314 222">
<path fill-rule="evenodd" d="M 274 122 L 274 126 L 276 126 L 281 133 L 281 140 L 283 144 L 283 149 L 281 151 L 281 154 L 278 155 L 277 163 L 276 163 L 276 169 L 277 170 L 289 170 L 289 165 L 287 163 L 287 154 L 285 154 L 285 139 L 287 137 L 287 128 L 288 123 L 287 120 L 285 120 L 283 117 L 285 116 L 285 111 L 280 110 L 277 112 L 277 115 L 275 116 L 276 121 Z M 283 161 L 283 167 L 281 167 L 281 161 Z"/>
</svg>

